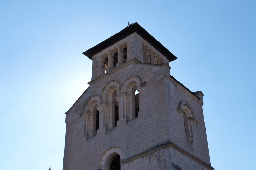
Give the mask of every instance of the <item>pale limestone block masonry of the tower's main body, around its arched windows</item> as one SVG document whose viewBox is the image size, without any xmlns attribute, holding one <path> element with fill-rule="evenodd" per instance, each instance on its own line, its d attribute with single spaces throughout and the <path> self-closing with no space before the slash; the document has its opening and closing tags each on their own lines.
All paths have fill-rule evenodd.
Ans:
<svg viewBox="0 0 256 170">
<path fill-rule="evenodd" d="M 169 69 L 167 63 L 161 65 L 142 63 L 135 57 L 89 82 L 90 87 L 66 113 L 63 170 L 103 170 L 108 167 L 107 162 L 111 161 L 116 153 L 121 157 L 121 169 L 136 169 L 136 167 L 143 167 L 143 169 L 182 167 L 186 169 L 189 166 L 191 167 L 187 169 L 193 169 L 193 167 L 204 169 L 202 164 L 198 164 L 194 159 L 182 154 L 178 155 L 180 152 L 176 153 L 176 150 L 172 151 L 170 148 L 154 151 L 151 156 L 147 154 L 142 157 L 138 156 L 144 152 L 148 153 L 150 148 L 157 148 L 159 144 L 167 141 L 210 164 L 202 106 L 171 83 Z M 131 76 L 136 78 L 129 78 Z M 103 89 L 108 83 L 115 84 L 116 89 L 119 89 L 116 90 L 118 98 L 118 96 L 127 95 L 122 91 L 126 87 L 123 84 L 127 82 L 135 82 L 139 91 L 139 117 L 125 118 L 124 108 L 119 106 L 117 127 L 106 128 L 103 110 L 107 104 L 104 102 Z M 100 112 L 99 129 L 95 136 L 85 135 L 86 116 L 89 115 L 86 108 L 90 107 L 86 105 L 88 101 L 94 101 Z M 182 124 L 183 115 L 177 111 L 181 101 L 190 103 L 194 110 L 195 120 L 198 121 L 196 125 L 192 124 L 193 143 L 188 142 L 184 120 Z M 177 155 L 179 159 L 175 159 Z M 174 159 L 171 159 L 173 163 L 168 162 L 169 157 Z M 130 161 L 132 159 L 133 161 Z"/>
</svg>

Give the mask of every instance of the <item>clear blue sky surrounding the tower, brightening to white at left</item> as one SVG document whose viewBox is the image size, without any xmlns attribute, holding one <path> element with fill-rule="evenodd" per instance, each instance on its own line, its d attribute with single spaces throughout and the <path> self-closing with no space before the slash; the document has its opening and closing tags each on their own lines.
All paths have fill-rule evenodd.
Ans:
<svg viewBox="0 0 256 170">
<path fill-rule="evenodd" d="M 0 164 L 62 169 L 65 112 L 88 87 L 82 52 L 137 22 L 204 93 L 211 165 L 255 169 L 256 1 L 0 1 Z"/>
</svg>

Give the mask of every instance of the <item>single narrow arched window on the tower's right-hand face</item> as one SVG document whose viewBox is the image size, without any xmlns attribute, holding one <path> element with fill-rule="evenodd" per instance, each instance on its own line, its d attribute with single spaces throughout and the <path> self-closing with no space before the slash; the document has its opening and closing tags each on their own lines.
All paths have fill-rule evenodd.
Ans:
<svg viewBox="0 0 256 170">
<path fill-rule="evenodd" d="M 193 110 L 190 107 L 189 103 L 186 101 L 181 101 L 177 110 L 179 113 L 183 115 L 183 118 L 184 118 L 185 135 L 191 142 L 193 142 L 194 140 L 193 140 L 192 122 L 197 124 Z"/>
</svg>

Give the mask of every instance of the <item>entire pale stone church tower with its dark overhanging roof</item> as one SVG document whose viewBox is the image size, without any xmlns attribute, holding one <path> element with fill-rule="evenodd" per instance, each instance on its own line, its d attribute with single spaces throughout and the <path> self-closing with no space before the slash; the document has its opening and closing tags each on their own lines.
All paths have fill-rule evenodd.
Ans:
<svg viewBox="0 0 256 170">
<path fill-rule="evenodd" d="M 170 75 L 168 49 L 134 23 L 83 54 L 92 80 L 65 113 L 63 170 L 214 170 L 203 93 Z"/>
</svg>

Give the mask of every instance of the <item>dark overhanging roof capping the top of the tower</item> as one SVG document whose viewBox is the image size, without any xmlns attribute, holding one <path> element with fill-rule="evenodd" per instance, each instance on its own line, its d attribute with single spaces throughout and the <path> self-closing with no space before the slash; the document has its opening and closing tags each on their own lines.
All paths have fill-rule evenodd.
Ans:
<svg viewBox="0 0 256 170">
<path fill-rule="evenodd" d="M 150 43 L 154 48 L 156 48 L 161 54 L 163 54 L 171 62 L 177 59 L 173 53 L 171 53 L 167 48 L 165 48 L 159 41 L 157 41 L 152 35 L 150 35 L 144 28 L 142 28 L 137 22 L 124 28 L 119 33 L 109 37 L 105 41 L 102 41 L 98 45 L 88 49 L 83 52 L 85 56 L 92 60 L 92 56 L 101 52 L 105 48 L 113 45 L 114 43 L 126 38 L 132 33 L 139 34 L 144 40 Z"/>
</svg>

